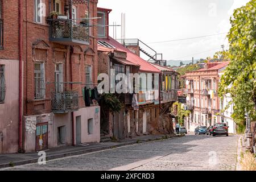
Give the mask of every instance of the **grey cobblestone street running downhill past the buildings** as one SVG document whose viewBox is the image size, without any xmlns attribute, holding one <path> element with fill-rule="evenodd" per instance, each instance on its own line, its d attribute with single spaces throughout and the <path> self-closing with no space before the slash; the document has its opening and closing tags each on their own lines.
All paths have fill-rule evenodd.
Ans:
<svg viewBox="0 0 256 182">
<path fill-rule="evenodd" d="M 3 170 L 235 170 L 238 138 L 186 135 Z"/>
</svg>

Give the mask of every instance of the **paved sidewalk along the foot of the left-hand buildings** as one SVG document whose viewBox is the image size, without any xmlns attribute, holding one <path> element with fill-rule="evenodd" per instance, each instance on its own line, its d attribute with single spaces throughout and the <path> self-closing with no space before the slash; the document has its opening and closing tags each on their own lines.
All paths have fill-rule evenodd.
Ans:
<svg viewBox="0 0 256 182">
<path fill-rule="evenodd" d="M 181 135 L 170 136 L 180 137 Z M 105 143 L 88 143 L 81 146 L 64 146 L 46 150 L 46 160 L 64 158 L 67 156 L 87 154 L 89 152 L 96 152 L 101 150 L 108 150 L 110 148 L 116 148 L 121 146 L 127 146 L 131 144 L 150 142 L 154 140 L 165 139 L 166 135 L 147 135 L 142 137 L 134 137 L 133 139 L 125 139 L 120 142 L 105 142 Z M 19 166 L 30 163 L 38 162 L 38 152 L 26 153 L 26 154 L 2 154 L 0 155 L 0 168 Z"/>
</svg>

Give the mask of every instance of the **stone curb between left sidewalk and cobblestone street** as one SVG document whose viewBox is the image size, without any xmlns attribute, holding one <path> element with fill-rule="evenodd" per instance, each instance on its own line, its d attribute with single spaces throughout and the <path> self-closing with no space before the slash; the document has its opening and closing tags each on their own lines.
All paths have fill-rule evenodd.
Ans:
<svg viewBox="0 0 256 182">
<path fill-rule="evenodd" d="M 176 137 L 183 137 L 183 136 L 174 136 L 174 137 L 170 137 L 170 138 L 167 138 L 167 139 L 163 139 L 163 138 L 154 138 L 154 139 L 146 139 L 146 140 L 143 140 L 143 139 L 139 140 L 138 139 L 139 143 L 138 142 L 127 142 L 127 143 L 114 144 L 112 146 L 97 147 L 97 148 L 90 148 L 90 149 L 85 149 L 85 150 L 81 150 L 81 151 L 66 152 L 66 153 L 57 154 L 57 155 L 49 155 L 49 156 L 46 157 L 46 161 L 53 160 L 53 159 L 60 159 L 60 158 L 70 157 L 70 156 L 88 154 L 88 153 L 91 153 L 91 152 L 103 151 L 103 150 L 108 150 L 108 149 L 117 148 L 117 147 L 130 146 L 130 145 L 133 145 L 133 144 L 154 142 L 154 141 L 159 141 L 159 140 L 168 140 L 168 139 L 176 138 Z M 25 164 L 35 164 L 37 162 L 38 162 L 38 158 L 28 159 L 28 160 L 20 160 L 20 161 L 17 161 L 17 162 L 11 162 L 11 164 L 13 166 L 11 166 L 10 163 L 0 164 L 0 168 L 22 166 L 22 165 L 25 165 Z"/>
</svg>

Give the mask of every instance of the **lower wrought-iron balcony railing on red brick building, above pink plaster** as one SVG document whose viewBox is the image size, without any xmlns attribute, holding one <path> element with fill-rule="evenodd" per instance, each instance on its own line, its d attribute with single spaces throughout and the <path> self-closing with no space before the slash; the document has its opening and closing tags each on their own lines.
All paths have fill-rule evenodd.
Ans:
<svg viewBox="0 0 256 182">
<path fill-rule="evenodd" d="M 79 110 L 79 93 L 77 91 L 53 92 L 53 113 L 68 113 Z"/>
</svg>

